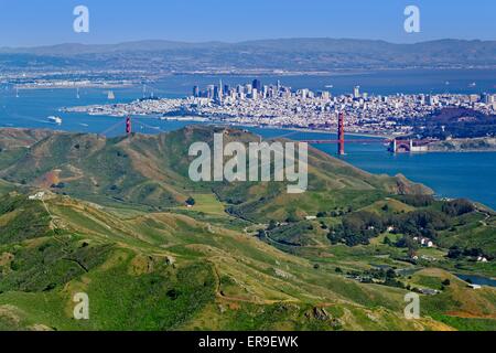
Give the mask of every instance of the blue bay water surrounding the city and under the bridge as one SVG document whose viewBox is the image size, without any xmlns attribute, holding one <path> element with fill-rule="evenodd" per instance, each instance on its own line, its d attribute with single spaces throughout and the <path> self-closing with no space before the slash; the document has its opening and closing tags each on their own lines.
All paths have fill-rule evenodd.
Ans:
<svg viewBox="0 0 496 353">
<path fill-rule="evenodd" d="M 417 75 L 403 73 L 369 74 L 369 75 L 342 75 L 335 77 L 301 76 L 301 77 L 265 77 L 272 82 L 281 79 L 283 84 L 292 87 L 309 87 L 322 89 L 324 85 L 333 85 L 330 90 L 343 93 L 351 90 L 355 84 L 359 84 L 364 90 L 373 94 L 402 93 L 481 93 L 490 89 L 492 77 L 495 73 L 463 71 L 463 72 L 431 72 L 423 83 L 418 82 Z M 424 76 L 425 77 L 425 76 Z M 424 78 L 423 77 L 423 78 Z M 454 78 L 459 77 L 459 78 Z M 153 92 L 162 97 L 182 97 L 188 94 L 192 84 L 212 82 L 212 76 L 173 76 L 165 83 L 150 86 Z M 226 83 L 240 83 L 247 77 L 223 77 Z M 446 85 L 446 82 L 450 85 Z M 476 87 L 471 83 L 476 82 Z M 391 85 L 387 85 L 390 83 Z M 127 87 L 114 89 L 115 103 L 129 103 L 139 98 L 141 87 Z M 88 116 L 86 114 L 62 114 L 62 125 L 48 121 L 48 116 L 60 116 L 62 107 L 89 104 L 109 104 L 107 92 L 104 89 L 82 89 L 80 98 L 76 97 L 75 89 L 26 89 L 21 90 L 19 98 L 12 89 L 0 92 L 0 127 L 23 128 L 50 128 L 77 132 L 101 133 L 107 131 L 109 136 L 123 132 L 121 127 L 111 129 L 120 118 Z M 121 120 L 121 119 L 120 119 Z M 152 117 L 140 117 L 143 121 L 138 129 L 147 133 L 157 133 L 179 129 L 191 125 L 188 121 L 161 121 Z M 138 127 L 138 126 L 137 126 Z M 148 127 L 148 128 L 147 128 Z M 265 137 L 277 137 L 288 133 L 279 129 L 250 128 L 254 132 Z M 292 139 L 320 139 L 322 133 L 298 132 Z M 326 136 L 325 138 L 328 138 Z M 335 138 L 335 137 L 332 137 Z M 335 154 L 336 146 L 315 146 L 325 152 Z M 374 145 L 347 145 L 347 156 L 343 157 L 349 163 L 373 173 L 397 174 L 402 173 L 412 181 L 424 183 L 433 189 L 439 196 L 468 197 L 496 208 L 496 152 L 466 152 L 466 153 L 424 153 L 424 154 L 391 154 L 380 143 Z"/>
</svg>

